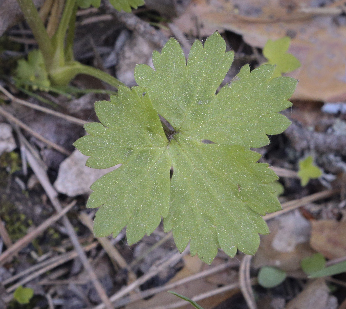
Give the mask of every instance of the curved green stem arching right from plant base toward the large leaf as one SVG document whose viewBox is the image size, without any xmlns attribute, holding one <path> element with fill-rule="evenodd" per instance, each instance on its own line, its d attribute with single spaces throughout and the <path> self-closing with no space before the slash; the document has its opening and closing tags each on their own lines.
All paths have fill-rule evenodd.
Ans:
<svg viewBox="0 0 346 309">
<path fill-rule="evenodd" d="M 72 61 L 63 67 L 59 67 L 49 72 L 49 76 L 55 85 L 67 85 L 77 74 L 94 76 L 115 88 L 125 86 L 112 75 L 96 69 L 95 67 L 81 64 L 78 61 Z"/>
</svg>

